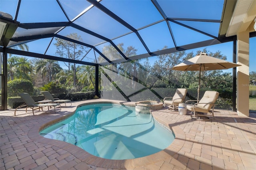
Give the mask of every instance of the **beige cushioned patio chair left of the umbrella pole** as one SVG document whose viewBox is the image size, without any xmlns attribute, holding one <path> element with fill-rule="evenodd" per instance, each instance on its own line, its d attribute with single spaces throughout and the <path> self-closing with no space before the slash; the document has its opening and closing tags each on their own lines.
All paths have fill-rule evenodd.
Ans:
<svg viewBox="0 0 256 170">
<path fill-rule="evenodd" d="M 176 92 L 173 97 L 164 98 L 164 107 L 165 105 L 170 105 L 171 108 L 169 109 L 174 110 L 175 108 L 178 107 L 180 103 L 184 103 L 186 94 L 187 94 L 187 89 L 176 89 Z"/>
</svg>

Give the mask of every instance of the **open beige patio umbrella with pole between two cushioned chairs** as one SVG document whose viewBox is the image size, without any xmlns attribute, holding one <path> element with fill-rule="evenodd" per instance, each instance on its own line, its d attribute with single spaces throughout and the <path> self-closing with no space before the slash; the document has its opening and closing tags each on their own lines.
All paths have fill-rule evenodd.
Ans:
<svg viewBox="0 0 256 170">
<path fill-rule="evenodd" d="M 200 79 L 201 79 L 201 71 L 207 70 L 221 70 L 221 69 L 230 69 L 233 67 L 241 66 L 236 63 L 228 62 L 223 59 L 218 59 L 215 57 L 210 57 L 206 53 L 200 53 L 183 63 L 180 63 L 174 67 L 172 70 L 180 70 L 180 71 L 199 71 L 199 83 L 198 83 L 198 94 L 197 101 L 199 101 L 199 92 L 200 92 Z"/>
</svg>

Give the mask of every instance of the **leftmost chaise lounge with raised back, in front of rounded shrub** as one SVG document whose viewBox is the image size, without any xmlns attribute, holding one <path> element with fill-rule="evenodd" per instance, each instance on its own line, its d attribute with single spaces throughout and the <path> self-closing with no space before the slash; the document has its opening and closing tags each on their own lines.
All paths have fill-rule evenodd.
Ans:
<svg viewBox="0 0 256 170">
<path fill-rule="evenodd" d="M 32 97 L 28 94 L 28 93 L 20 93 L 19 94 L 20 97 L 25 101 L 24 104 L 20 105 L 19 107 L 17 107 L 14 111 L 14 116 L 16 116 L 16 110 L 18 108 L 21 108 L 21 107 L 26 107 L 26 112 L 27 112 L 27 109 L 28 107 L 30 107 L 32 109 L 32 112 L 33 112 L 33 115 L 34 115 L 34 110 L 38 109 L 38 111 L 40 111 L 40 108 L 42 109 L 43 111 L 43 107 L 48 107 L 48 110 L 49 110 L 49 107 L 54 107 L 54 112 L 56 113 L 56 110 L 55 110 L 55 107 L 59 106 L 60 107 L 60 104 L 59 103 L 44 103 L 44 104 L 37 104 L 34 99 L 32 99 Z M 60 110 L 61 110 L 61 107 L 60 107 Z"/>
</svg>

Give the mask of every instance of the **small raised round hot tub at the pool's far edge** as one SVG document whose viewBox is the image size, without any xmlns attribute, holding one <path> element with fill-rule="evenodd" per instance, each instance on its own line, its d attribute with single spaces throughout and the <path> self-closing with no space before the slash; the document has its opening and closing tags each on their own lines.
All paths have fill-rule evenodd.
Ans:
<svg viewBox="0 0 256 170">
<path fill-rule="evenodd" d="M 158 110 L 164 107 L 164 103 L 158 101 L 138 101 L 135 103 L 135 111 L 150 113 L 150 110 Z"/>
</svg>

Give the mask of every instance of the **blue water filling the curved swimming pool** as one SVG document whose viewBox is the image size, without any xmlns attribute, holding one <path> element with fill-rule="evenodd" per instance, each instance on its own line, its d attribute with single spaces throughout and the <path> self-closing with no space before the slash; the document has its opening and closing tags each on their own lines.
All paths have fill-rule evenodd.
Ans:
<svg viewBox="0 0 256 170">
<path fill-rule="evenodd" d="M 42 131 L 40 135 L 69 142 L 106 159 L 132 159 L 167 148 L 174 134 L 135 107 L 95 104 Z"/>
</svg>

